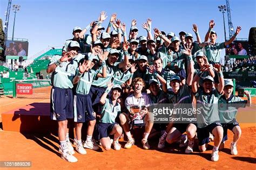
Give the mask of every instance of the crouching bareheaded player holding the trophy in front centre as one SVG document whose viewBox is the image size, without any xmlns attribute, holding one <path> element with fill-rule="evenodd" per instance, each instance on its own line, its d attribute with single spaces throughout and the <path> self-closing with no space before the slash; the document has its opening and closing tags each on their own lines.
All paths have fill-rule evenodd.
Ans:
<svg viewBox="0 0 256 170">
<path fill-rule="evenodd" d="M 130 129 L 132 126 L 145 125 L 145 132 L 143 134 L 142 144 L 145 150 L 150 149 L 147 141 L 151 129 L 153 127 L 153 116 L 149 112 L 149 106 L 152 103 L 150 97 L 146 93 L 142 93 L 145 87 L 145 82 L 142 78 L 137 77 L 132 82 L 133 93 L 125 100 L 125 107 L 127 114 L 119 115 L 120 124 L 122 125 L 125 134 L 128 138 L 125 148 L 131 148 L 134 145 L 134 139 L 131 136 Z"/>
</svg>

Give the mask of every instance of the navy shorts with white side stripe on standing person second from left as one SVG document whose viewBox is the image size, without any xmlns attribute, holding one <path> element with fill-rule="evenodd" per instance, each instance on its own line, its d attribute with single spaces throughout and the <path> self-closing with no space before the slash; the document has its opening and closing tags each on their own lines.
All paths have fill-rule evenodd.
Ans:
<svg viewBox="0 0 256 170">
<path fill-rule="evenodd" d="M 94 121 L 92 101 L 89 95 L 76 94 L 74 96 L 74 122 L 83 123 Z"/>
</svg>

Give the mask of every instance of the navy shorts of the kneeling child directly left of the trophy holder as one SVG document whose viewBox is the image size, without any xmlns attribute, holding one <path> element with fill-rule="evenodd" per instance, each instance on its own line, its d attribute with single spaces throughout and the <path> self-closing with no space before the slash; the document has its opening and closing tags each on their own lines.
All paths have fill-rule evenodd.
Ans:
<svg viewBox="0 0 256 170">
<path fill-rule="evenodd" d="M 114 128 L 114 125 L 117 123 L 102 123 L 99 122 L 95 125 L 94 138 L 100 140 L 110 136 L 111 131 Z"/>
</svg>

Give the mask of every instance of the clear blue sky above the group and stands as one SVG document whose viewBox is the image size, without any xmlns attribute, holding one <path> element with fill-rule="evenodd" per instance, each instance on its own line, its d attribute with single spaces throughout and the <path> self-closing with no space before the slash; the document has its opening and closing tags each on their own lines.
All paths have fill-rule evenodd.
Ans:
<svg viewBox="0 0 256 170">
<path fill-rule="evenodd" d="M 256 25 L 255 0 L 230 0 L 231 18 L 234 28 L 241 26 L 237 38 L 248 38 L 249 30 Z M 15 38 L 29 40 L 29 56 L 47 47 L 61 48 L 66 39 L 72 38 L 72 29 L 80 26 L 84 29 L 93 20 L 97 20 L 100 11 L 106 11 L 107 19 L 103 26 L 109 23 L 111 14 L 116 12 L 117 18 L 126 23 L 129 33 L 131 20 L 137 19 L 139 36 L 146 36 L 142 23 L 147 18 L 152 19 L 152 27 L 159 30 L 174 32 L 192 31 L 192 24 L 198 25 L 199 34 L 204 40 L 211 19 L 215 21 L 214 31 L 218 34 L 217 41 L 224 41 L 223 15 L 219 5 L 226 5 L 225 0 L 173 0 L 173 1 L 78 1 L 78 0 L 13 0 L 11 5 L 21 5 L 16 14 Z M 5 22 L 5 11 L 8 0 L 0 0 L 0 17 Z M 14 11 L 11 10 L 8 27 L 8 37 L 12 37 Z M 227 13 L 225 13 L 226 35 L 228 37 Z M 224 55 L 225 51 L 222 52 Z"/>
</svg>

